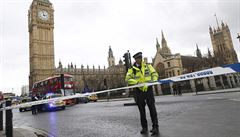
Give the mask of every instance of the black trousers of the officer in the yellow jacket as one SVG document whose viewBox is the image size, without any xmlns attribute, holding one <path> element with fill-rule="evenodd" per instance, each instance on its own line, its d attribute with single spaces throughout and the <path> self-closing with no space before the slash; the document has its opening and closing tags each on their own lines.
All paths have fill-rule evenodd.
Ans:
<svg viewBox="0 0 240 137">
<path fill-rule="evenodd" d="M 152 87 L 148 87 L 147 92 L 143 92 L 140 89 L 136 88 L 136 103 L 138 105 L 138 109 L 141 117 L 141 125 L 142 128 L 148 128 L 147 119 L 146 119 L 146 111 L 145 106 L 147 104 L 152 120 L 152 127 L 158 128 L 158 118 L 157 111 L 155 107 L 155 99 L 153 95 Z"/>
</svg>

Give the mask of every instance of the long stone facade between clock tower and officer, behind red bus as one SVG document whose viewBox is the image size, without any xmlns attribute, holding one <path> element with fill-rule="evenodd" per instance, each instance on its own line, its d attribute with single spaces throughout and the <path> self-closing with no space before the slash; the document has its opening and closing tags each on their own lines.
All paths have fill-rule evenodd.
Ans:
<svg viewBox="0 0 240 137">
<path fill-rule="evenodd" d="M 107 69 L 100 67 L 95 68 L 81 68 L 69 67 L 62 68 L 59 67 L 55 70 L 55 74 L 71 74 L 74 76 L 76 81 L 76 92 L 81 92 L 82 88 L 88 86 L 94 91 L 111 89 L 117 87 L 125 86 L 125 67 L 123 65 L 117 65 L 114 67 L 109 67 Z"/>
</svg>

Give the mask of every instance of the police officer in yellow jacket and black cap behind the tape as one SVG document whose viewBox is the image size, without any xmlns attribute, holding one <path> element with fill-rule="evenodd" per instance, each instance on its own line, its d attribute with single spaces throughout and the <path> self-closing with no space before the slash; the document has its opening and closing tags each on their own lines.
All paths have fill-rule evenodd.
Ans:
<svg viewBox="0 0 240 137">
<path fill-rule="evenodd" d="M 136 85 L 141 83 L 146 84 L 147 82 L 154 82 L 158 80 L 158 74 L 152 65 L 146 64 L 142 60 L 142 52 L 136 53 L 133 58 L 135 59 L 135 63 L 133 64 L 132 68 L 128 69 L 125 78 L 129 85 Z M 138 105 L 141 117 L 142 130 L 140 133 L 148 133 L 148 124 L 145 111 L 145 106 L 147 104 L 152 120 L 152 130 L 150 130 L 150 132 L 152 132 L 152 135 L 158 134 L 158 118 L 152 86 L 148 87 L 145 85 L 143 87 L 135 88 L 134 90 L 136 92 L 136 103 Z"/>
</svg>

